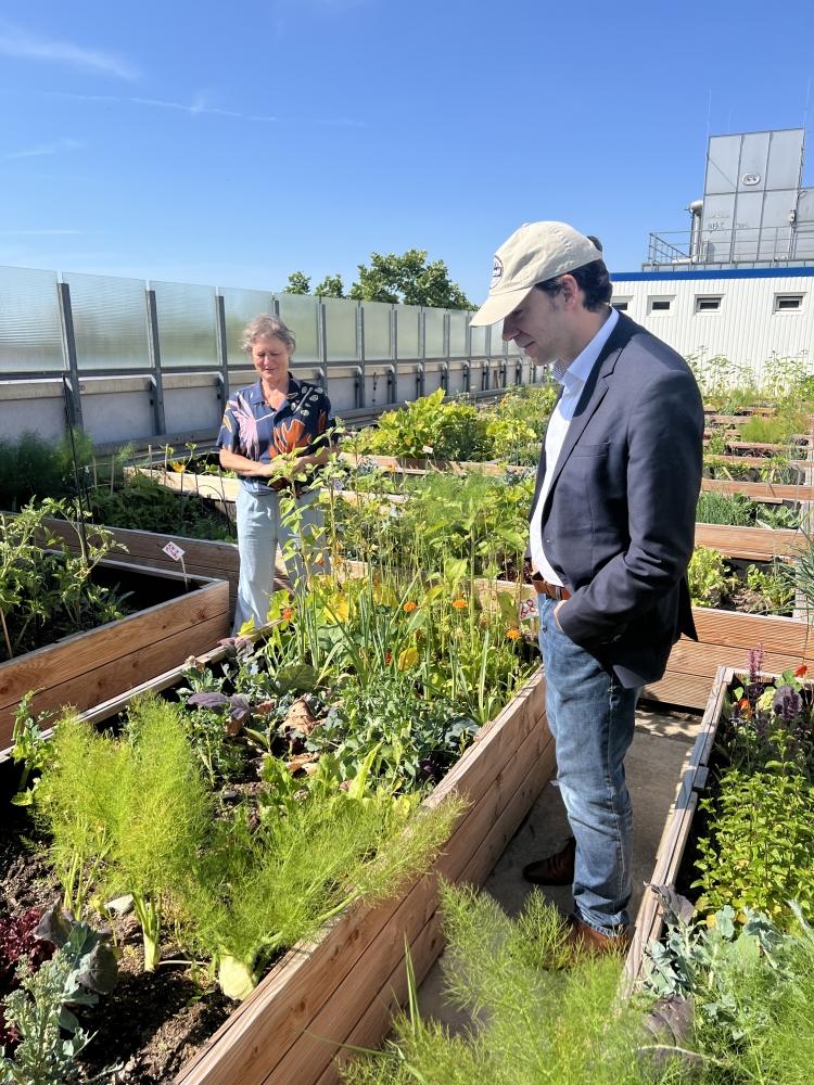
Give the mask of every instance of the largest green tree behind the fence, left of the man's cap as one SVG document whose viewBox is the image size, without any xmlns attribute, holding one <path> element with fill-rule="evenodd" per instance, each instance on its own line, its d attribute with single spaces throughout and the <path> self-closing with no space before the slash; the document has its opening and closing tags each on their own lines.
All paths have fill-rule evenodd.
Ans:
<svg viewBox="0 0 814 1085">
<path fill-rule="evenodd" d="M 348 297 L 360 302 L 403 302 L 442 309 L 476 309 L 456 282 L 444 260 L 427 263 L 425 250 L 408 248 L 403 256 L 370 254 L 370 267 L 359 264 L 359 278 Z"/>
</svg>

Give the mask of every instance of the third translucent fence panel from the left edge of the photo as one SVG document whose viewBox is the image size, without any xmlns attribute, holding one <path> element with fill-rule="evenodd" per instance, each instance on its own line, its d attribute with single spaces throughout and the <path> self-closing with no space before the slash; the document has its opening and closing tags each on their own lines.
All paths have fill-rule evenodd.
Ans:
<svg viewBox="0 0 814 1085">
<path fill-rule="evenodd" d="M 215 288 L 151 282 L 158 317 L 162 368 L 217 366 Z"/>
</svg>

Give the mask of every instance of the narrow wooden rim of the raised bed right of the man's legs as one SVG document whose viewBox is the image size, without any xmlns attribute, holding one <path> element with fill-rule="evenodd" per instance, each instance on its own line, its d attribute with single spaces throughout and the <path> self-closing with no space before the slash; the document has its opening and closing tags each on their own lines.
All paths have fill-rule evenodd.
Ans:
<svg viewBox="0 0 814 1085">
<path fill-rule="evenodd" d="M 780 669 L 788 663 L 780 664 Z M 770 669 L 767 664 L 764 666 Z M 733 667 L 718 667 L 707 701 L 701 729 L 690 754 L 689 765 L 685 769 L 678 797 L 667 820 L 664 835 L 653 869 L 650 883 L 652 885 L 669 885 L 675 889 L 678 868 L 684 857 L 684 851 L 689 840 L 692 818 L 698 808 L 699 794 L 707 788 L 710 756 L 715 743 L 726 690 L 735 677 Z M 631 948 L 625 961 L 624 985 L 626 990 L 635 984 L 641 972 L 643 953 L 651 939 L 661 935 L 664 923 L 661 905 L 653 893 L 645 893 L 641 901 L 634 930 Z"/>
</svg>

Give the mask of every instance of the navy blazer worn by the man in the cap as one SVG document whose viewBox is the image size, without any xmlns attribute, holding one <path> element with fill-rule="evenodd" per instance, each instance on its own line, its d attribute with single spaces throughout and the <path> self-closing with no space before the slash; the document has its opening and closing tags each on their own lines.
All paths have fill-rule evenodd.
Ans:
<svg viewBox="0 0 814 1085">
<path fill-rule="evenodd" d="M 543 545 L 572 592 L 563 633 L 625 687 L 657 681 L 684 633 L 703 407 L 687 362 L 623 312 L 568 427 Z M 532 513 L 546 473 L 545 442 Z"/>
</svg>

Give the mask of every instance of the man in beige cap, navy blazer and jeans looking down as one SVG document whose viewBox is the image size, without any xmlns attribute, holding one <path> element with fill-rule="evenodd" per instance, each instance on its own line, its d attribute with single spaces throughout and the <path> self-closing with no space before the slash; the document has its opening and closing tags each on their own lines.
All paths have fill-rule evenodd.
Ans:
<svg viewBox="0 0 814 1085">
<path fill-rule="evenodd" d="M 495 256 L 473 324 L 503 320 L 562 385 L 543 443 L 531 558 L 548 723 L 573 838 L 523 871 L 573 885 L 568 942 L 627 944 L 632 805 L 624 756 L 641 687 L 681 634 L 701 486 L 703 409 L 684 359 L 609 305 L 596 239 L 535 222 Z"/>
</svg>

